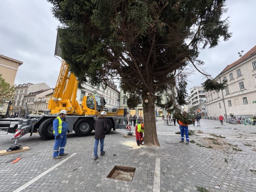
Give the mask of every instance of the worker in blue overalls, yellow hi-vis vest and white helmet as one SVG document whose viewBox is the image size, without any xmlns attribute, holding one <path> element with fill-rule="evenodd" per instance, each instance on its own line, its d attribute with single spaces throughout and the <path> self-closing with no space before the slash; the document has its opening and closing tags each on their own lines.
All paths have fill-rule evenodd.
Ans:
<svg viewBox="0 0 256 192">
<path fill-rule="evenodd" d="M 53 134 L 55 137 L 55 143 L 53 146 L 53 158 L 60 159 L 60 156 L 66 156 L 68 153 L 64 153 L 64 148 L 67 143 L 68 121 L 66 120 L 67 111 L 61 110 L 59 116 L 53 120 Z"/>
</svg>

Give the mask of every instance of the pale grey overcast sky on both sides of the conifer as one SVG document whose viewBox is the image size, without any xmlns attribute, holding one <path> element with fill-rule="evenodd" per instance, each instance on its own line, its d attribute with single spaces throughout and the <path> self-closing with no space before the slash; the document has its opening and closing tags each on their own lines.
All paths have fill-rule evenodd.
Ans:
<svg viewBox="0 0 256 192">
<path fill-rule="evenodd" d="M 256 0 L 227 0 L 232 37 L 213 49 L 202 50 L 199 59 L 213 77 L 228 64 L 239 59 L 256 45 Z M 42 83 L 54 88 L 61 62 L 54 57 L 56 28 L 59 25 L 46 0 L 0 1 L 0 54 L 22 61 L 15 84 Z M 200 86 L 203 76 L 195 73 L 188 78 L 188 88 Z"/>
</svg>

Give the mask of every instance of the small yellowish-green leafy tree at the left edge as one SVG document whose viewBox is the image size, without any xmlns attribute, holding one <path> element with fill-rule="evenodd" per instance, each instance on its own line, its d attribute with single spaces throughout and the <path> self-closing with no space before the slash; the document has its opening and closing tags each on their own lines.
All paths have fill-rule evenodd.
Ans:
<svg viewBox="0 0 256 192">
<path fill-rule="evenodd" d="M 5 82 L 2 74 L 0 74 L 0 103 L 4 103 L 4 101 L 12 101 L 14 91 L 14 87 Z"/>
</svg>

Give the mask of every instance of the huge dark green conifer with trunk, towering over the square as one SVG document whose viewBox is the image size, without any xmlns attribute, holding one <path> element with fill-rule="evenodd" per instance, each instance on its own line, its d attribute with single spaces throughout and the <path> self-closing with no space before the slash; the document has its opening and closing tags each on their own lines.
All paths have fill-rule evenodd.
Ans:
<svg viewBox="0 0 256 192">
<path fill-rule="evenodd" d="M 60 21 L 62 58 L 80 84 L 117 79 L 128 107 L 143 103 L 145 144 L 160 146 L 155 104 L 181 115 L 187 76 L 202 71 L 201 49 L 228 40 L 225 0 L 48 0 Z M 219 89 L 225 83 L 217 83 Z M 162 103 L 168 90 L 169 102 Z"/>
</svg>

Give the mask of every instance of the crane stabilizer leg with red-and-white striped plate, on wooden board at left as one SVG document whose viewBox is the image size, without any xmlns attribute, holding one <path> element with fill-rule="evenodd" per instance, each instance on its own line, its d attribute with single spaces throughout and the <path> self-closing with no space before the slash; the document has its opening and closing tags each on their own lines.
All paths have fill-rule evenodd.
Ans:
<svg viewBox="0 0 256 192">
<path fill-rule="evenodd" d="M 12 138 L 12 140 L 15 139 L 15 142 L 13 145 L 11 145 L 11 147 L 9 147 L 9 149 L 6 149 L 7 152 L 22 149 L 22 145 L 18 144 L 18 139 L 23 135 L 27 134 L 30 128 L 30 125 L 22 127 L 22 122 L 22 120 L 19 120 L 18 128 L 15 130 L 14 138 Z"/>
</svg>

